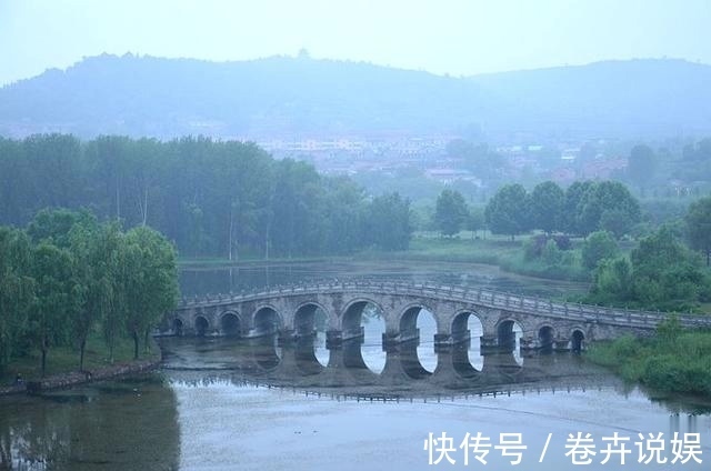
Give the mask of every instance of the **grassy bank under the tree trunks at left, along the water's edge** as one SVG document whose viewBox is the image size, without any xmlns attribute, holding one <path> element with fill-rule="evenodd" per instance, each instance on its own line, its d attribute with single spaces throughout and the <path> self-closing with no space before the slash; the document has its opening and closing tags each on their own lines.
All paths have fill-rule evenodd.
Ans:
<svg viewBox="0 0 711 471">
<path fill-rule="evenodd" d="M 160 358 L 160 350 L 151 339 L 150 353 L 140 349 L 141 360 L 154 360 Z M 131 339 L 117 340 L 113 350 L 113 364 L 127 363 L 133 361 L 133 341 Z M 84 357 L 84 370 L 91 371 L 109 367 L 109 352 L 101 335 L 91 335 L 87 340 L 87 350 Z M 79 351 L 68 347 L 57 347 L 50 349 L 47 357 L 46 377 L 54 374 L 63 374 L 72 371 L 79 371 Z M 0 384 L 7 385 L 14 381 L 16 375 L 20 373 L 26 381 L 39 380 L 41 378 L 40 352 L 32 351 L 28 355 L 13 359 L 7 365 L 2 374 L 0 374 Z"/>
</svg>

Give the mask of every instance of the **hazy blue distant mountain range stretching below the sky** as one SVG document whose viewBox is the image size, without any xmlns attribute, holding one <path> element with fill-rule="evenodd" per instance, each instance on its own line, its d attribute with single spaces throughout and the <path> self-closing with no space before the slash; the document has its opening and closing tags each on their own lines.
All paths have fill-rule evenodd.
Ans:
<svg viewBox="0 0 711 471">
<path fill-rule="evenodd" d="M 368 63 L 103 54 L 0 89 L 0 134 L 248 139 L 711 133 L 711 67 L 599 62 L 472 78 Z"/>
</svg>

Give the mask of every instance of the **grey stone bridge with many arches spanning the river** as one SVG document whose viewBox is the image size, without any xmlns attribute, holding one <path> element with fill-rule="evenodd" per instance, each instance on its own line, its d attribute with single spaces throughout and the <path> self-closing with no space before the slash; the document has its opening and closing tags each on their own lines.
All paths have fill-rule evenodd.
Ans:
<svg viewBox="0 0 711 471">
<path fill-rule="evenodd" d="M 608 309 L 597 305 L 552 302 L 459 285 L 399 281 L 346 281 L 264 288 L 249 293 L 217 295 L 186 301 L 166 315 L 161 334 L 236 335 L 280 340 L 312 335 L 316 313 L 326 317 L 327 348 L 363 338 L 362 315 L 375 307 L 384 320 L 383 350 L 419 342 L 417 318 L 422 310 L 437 322 L 434 348 L 471 340 L 470 317 L 482 327 L 482 352 L 522 349 L 582 350 L 597 340 L 625 333 L 648 335 L 667 319 L 659 312 Z M 323 315 L 321 314 L 321 315 Z M 680 315 L 687 328 L 711 328 L 711 319 Z M 515 325 L 519 328 L 515 329 Z M 428 339 L 430 340 L 430 339 Z"/>
</svg>

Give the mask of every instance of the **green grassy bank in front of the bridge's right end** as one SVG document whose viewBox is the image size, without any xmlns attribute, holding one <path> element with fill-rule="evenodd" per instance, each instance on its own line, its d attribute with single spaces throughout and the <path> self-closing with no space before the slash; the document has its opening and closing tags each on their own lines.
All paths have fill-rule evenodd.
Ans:
<svg viewBox="0 0 711 471">
<path fill-rule="evenodd" d="M 597 343 L 587 358 L 661 393 L 711 397 L 711 332 L 662 329 L 654 338 Z"/>
</svg>

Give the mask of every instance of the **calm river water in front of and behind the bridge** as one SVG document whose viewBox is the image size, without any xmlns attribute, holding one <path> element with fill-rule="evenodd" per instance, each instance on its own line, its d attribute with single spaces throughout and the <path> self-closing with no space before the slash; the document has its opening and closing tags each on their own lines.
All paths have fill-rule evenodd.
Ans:
<svg viewBox="0 0 711 471">
<path fill-rule="evenodd" d="M 555 298 L 584 289 L 472 264 L 384 262 L 191 270 L 181 283 L 192 297 L 350 277 Z M 385 367 L 377 312 L 364 324 L 368 368 L 357 370 L 329 365 L 321 333 L 297 345 L 161 339 L 157 373 L 0 398 L 0 470 L 579 469 L 573 460 L 591 470 L 711 469 L 711 399 L 655 401 L 568 353 L 482 357 L 475 322 L 470 345 L 435 353 L 433 322 L 421 317 L 417 379 Z M 462 368 L 427 373 L 442 364 Z"/>
</svg>

